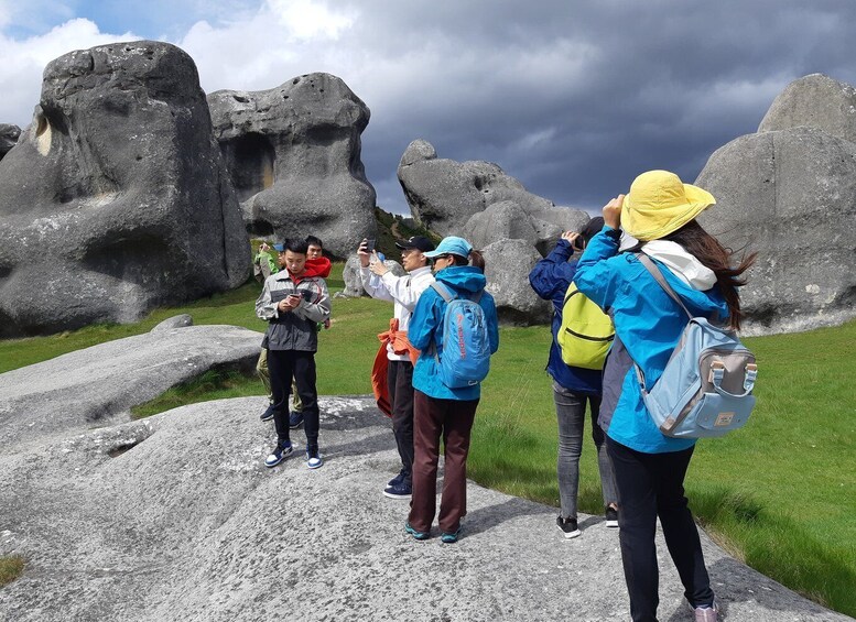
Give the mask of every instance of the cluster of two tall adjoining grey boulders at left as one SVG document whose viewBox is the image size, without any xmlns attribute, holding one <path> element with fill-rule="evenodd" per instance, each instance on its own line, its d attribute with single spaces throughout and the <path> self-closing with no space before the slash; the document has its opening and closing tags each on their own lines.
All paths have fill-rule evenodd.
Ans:
<svg viewBox="0 0 856 622">
<path fill-rule="evenodd" d="M 248 230 L 314 233 L 344 255 L 376 231 L 368 120 L 326 74 L 206 99 L 166 43 L 53 61 L 30 127 L 0 126 L 0 337 L 134 321 L 237 287 Z"/>
</svg>

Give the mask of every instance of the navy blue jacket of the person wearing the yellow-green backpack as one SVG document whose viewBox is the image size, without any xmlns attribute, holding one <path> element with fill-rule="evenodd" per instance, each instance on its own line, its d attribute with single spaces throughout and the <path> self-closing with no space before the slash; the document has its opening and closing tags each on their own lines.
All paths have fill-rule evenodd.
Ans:
<svg viewBox="0 0 856 622">
<path fill-rule="evenodd" d="M 529 284 L 541 298 L 553 302 L 553 342 L 550 346 L 550 358 L 546 362 L 548 373 L 570 391 L 599 395 L 602 371 L 566 364 L 562 360 L 562 352 L 556 342 L 556 335 L 562 326 L 565 293 L 576 273 L 576 261 L 568 261 L 573 254 L 574 249 L 571 243 L 567 240 L 559 240 L 553 252 L 539 260 L 529 273 Z"/>
</svg>

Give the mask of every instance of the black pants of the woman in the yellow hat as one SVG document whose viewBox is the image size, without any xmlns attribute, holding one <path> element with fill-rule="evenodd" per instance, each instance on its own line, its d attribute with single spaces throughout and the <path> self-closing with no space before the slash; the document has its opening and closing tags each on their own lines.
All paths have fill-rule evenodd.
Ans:
<svg viewBox="0 0 856 622">
<path fill-rule="evenodd" d="M 694 448 L 642 454 L 608 436 L 606 448 L 621 500 L 618 537 L 633 621 L 657 621 L 660 597 L 654 533 L 658 516 L 686 600 L 693 607 L 713 604 L 714 593 L 704 567 L 698 530 L 684 496 L 684 477 Z"/>
</svg>

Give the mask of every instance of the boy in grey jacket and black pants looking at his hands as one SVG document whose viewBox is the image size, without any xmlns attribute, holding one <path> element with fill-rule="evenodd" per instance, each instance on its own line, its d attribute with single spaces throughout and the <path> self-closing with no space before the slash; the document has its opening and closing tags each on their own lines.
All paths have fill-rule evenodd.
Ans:
<svg viewBox="0 0 856 622">
<path fill-rule="evenodd" d="M 289 430 L 289 397 L 293 378 L 303 402 L 306 465 L 317 469 L 323 461 L 318 452 L 318 395 L 315 388 L 316 326 L 329 319 L 329 293 L 323 279 L 306 273 L 305 241 L 288 240 L 274 248 L 284 255 L 285 270 L 264 281 L 261 295 L 256 301 L 256 315 L 269 321 L 262 346 L 268 348 L 273 423 L 277 427 L 277 447 L 264 465 L 275 467 L 293 451 Z"/>
</svg>

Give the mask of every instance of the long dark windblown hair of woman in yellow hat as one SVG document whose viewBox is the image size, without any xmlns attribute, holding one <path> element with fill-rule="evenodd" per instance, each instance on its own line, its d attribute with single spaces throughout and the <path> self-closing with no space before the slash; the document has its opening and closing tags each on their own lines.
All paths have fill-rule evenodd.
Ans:
<svg viewBox="0 0 856 622">
<path fill-rule="evenodd" d="M 662 239 L 681 244 L 686 252 L 714 271 L 719 290 L 728 304 L 728 326 L 735 330 L 739 329 L 740 319 L 744 316 L 740 312 L 740 294 L 737 287 L 746 285 L 746 279 L 740 279 L 740 275 L 755 263 L 758 253 L 744 255 L 737 266 L 732 268 L 735 253 L 722 245 L 719 240 L 702 229 L 695 220 L 691 220 Z"/>
</svg>

